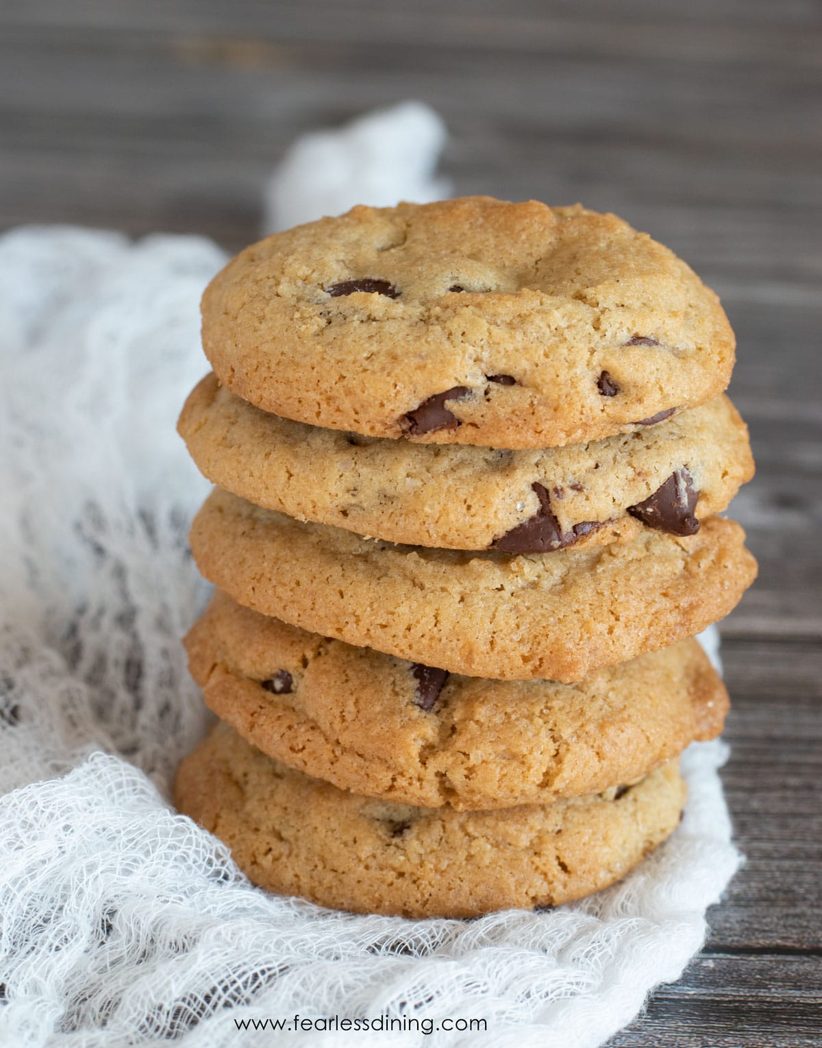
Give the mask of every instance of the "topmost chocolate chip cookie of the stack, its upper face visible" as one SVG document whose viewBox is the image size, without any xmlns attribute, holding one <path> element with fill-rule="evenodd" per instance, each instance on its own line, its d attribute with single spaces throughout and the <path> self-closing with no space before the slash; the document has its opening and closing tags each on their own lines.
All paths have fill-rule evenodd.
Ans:
<svg viewBox="0 0 822 1048">
<path fill-rule="evenodd" d="M 266 411 L 365 436 L 547 447 L 728 385 L 716 296 L 614 215 L 465 197 L 354 208 L 217 275 L 203 348 Z"/>
</svg>

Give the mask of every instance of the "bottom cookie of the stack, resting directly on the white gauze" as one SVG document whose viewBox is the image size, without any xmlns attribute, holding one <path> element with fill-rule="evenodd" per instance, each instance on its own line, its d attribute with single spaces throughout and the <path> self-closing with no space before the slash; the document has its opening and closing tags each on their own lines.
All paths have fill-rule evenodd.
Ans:
<svg viewBox="0 0 822 1048">
<path fill-rule="evenodd" d="M 619 880 L 676 828 L 685 792 L 669 763 L 627 789 L 552 805 L 419 808 L 338 790 L 219 724 L 180 765 L 175 803 L 269 891 L 357 913 L 472 917 Z"/>
</svg>

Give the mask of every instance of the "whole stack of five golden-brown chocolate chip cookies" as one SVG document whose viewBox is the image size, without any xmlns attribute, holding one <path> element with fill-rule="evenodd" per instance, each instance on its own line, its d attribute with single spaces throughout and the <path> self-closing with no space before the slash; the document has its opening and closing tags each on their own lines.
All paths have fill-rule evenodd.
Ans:
<svg viewBox="0 0 822 1048">
<path fill-rule="evenodd" d="M 217 486 L 186 638 L 220 718 L 180 810 L 325 905 L 469 916 L 622 877 L 725 689 L 756 573 L 716 296 L 613 215 L 355 208 L 203 298 L 179 430 Z"/>
</svg>

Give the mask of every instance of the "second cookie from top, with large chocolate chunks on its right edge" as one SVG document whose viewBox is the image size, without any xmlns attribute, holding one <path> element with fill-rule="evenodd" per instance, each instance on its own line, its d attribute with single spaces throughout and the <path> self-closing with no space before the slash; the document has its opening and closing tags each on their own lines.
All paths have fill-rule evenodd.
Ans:
<svg viewBox="0 0 822 1048">
<path fill-rule="evenodd" d="M 323 430 L 261 411 L 208 375 L 178 429 L 200 471 L 256 505 L 388 542 L 519 551 L 634 538 L 638 506 L 674 475 L 692 506 L 652 522 L 681 529 L 726 509 L 753 476 L 748 430 L 727 397 L 659 425 L 587 444 L 520 451 Z M 661 498 L 661 496 L 657 496 Z M 542 504 L 547 503 L 547 511 Z M 534 517 L 538 526 L 524 528 Z"/>
</svg>

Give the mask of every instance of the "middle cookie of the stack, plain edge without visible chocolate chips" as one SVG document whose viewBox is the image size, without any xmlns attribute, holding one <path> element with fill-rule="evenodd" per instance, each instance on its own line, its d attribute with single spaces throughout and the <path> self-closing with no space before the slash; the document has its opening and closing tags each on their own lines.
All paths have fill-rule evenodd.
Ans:
<svg viewBox="0 0 822 1048">
<path fill-rule="evenodd" d="M 753 582 L 720 517 L 591 549 L 510 555 L 395 546 L 216 489 L 195 518 L 202 574 L 240 604 L 324 636 L 473 677 L 572 682 L 693 636 Z"/>
</svg>

